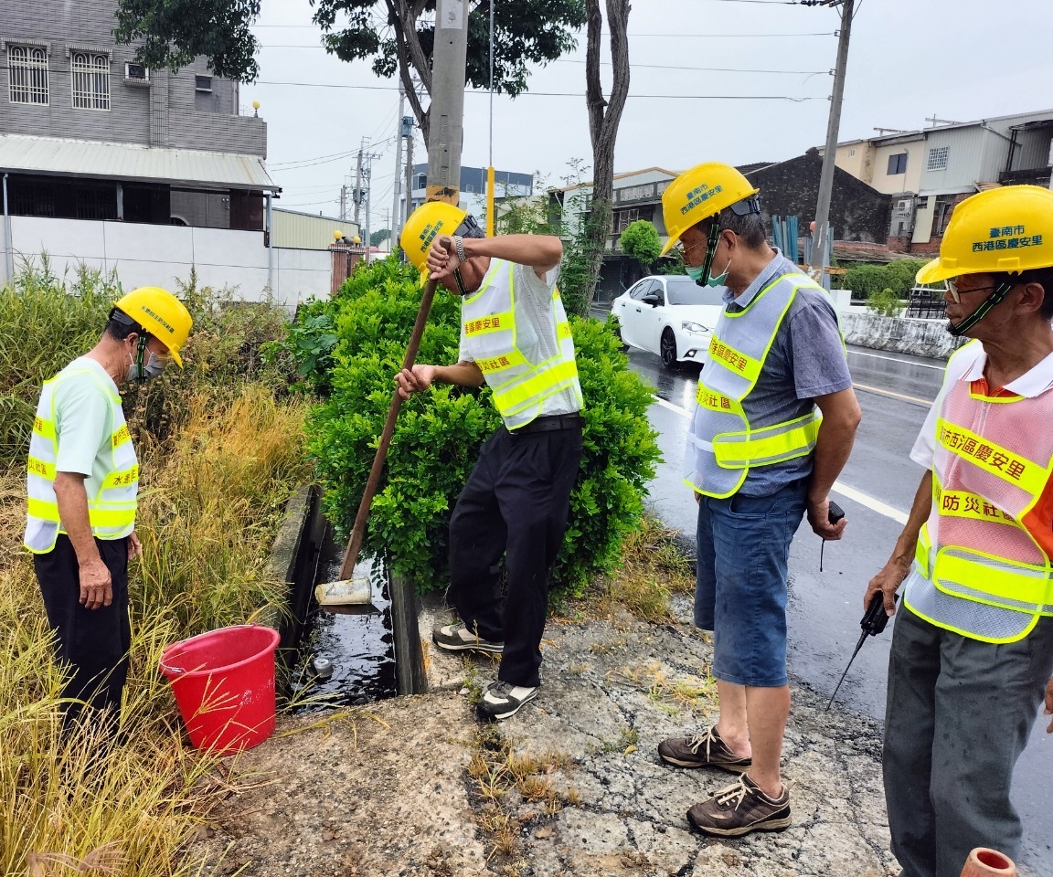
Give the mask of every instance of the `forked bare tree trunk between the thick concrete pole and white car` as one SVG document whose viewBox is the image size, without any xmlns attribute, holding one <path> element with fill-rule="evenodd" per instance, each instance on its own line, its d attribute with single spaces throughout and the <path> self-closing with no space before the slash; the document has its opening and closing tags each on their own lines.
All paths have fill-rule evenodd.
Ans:
<svg viewBox="0 0 1053 877">
<path fill-rule="evenodd" d="M 618 138 L 621 111 L 629 95 L 629 0 L 607 0 L 608 28 L 611 34 L 611 65 L 614 77 L 611 99 L 603 97 L 599 78 L 600 35 L 603 14 L 600 0 L 587 0 L 589 25 L 585 51 L 585 104 L 589 107 L 589 135 L 593 147 L 593 200 L 585 218 L 588 270 L 584 306 L 588 312 L 596 297 L 600 264 L 611 237 L 614 197 L 614 144 Z"/>
</svg>

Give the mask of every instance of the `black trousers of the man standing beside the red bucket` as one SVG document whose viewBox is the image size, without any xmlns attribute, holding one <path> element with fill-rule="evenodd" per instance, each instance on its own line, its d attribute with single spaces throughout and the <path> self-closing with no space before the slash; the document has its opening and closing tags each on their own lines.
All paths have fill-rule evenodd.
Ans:
<svg viewBox="0 0 1053 877">
<path fill-rule="evenodd" d="M 110 707 L 116 718 L 132 644 L 127 538 L 96 539 L 95 543 L 113 579 L 114 601 L 108 606 L 88 610 L 81 605 L 80 567 L 68 536 L 59 534 L 55 547 L 34 555 L 33 563 L 47 622 L 57 634 L 56 656 L 68 667 L 62 697 L 96 709 Z M 74 724 L 82 710 L 79 703 L 67 703 L 63 726 Z"/>
</svg>

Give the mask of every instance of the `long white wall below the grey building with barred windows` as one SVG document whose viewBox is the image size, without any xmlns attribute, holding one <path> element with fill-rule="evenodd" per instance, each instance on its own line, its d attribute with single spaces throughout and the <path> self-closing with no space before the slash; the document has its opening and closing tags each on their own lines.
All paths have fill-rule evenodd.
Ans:
<svg viewBox="0 0 1053 877">
<path fill-rule="evenodd" d="M 35 216 L 14 216 L 11 223 L 16 271 L 26 260 L 39 263 L 47 253 L 58 277 L 84 264 L 104 272 L 116 268 L 125 290 L 158 285 L 176 292 L 175 280 L 185 282 L 193 266 L 202 286 L 229 286 L 246 301 L 265 297 L 262 232 Z M 4 246 L 0 237 L 0 271 Z M 331 271 L 329 251 L 275 247 L 274 298 L 293 308 L 297 301 L 326 297 Z"/>
</svg>

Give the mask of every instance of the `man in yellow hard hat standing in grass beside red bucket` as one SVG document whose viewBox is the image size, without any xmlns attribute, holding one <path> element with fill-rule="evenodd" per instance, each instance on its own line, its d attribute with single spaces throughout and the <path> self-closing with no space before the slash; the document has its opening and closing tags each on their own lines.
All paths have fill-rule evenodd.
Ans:
<svg viewBox="0 0 1053 877">
<path fill-rule="evenodd" d="M 25 546 L 57 654 L 68 665 L 64 724 L 83 704 L 120 710 L 131 643 L 127 564 L 139 463 L 118 387 L 156 377 L 179 352 L 191 315 L 171 293 L 134 290 L 110 312 L 98 343 L 46 381 L 29 442 Z M 96 718 L 93 716 L 92 718 Z"/>
</svg>

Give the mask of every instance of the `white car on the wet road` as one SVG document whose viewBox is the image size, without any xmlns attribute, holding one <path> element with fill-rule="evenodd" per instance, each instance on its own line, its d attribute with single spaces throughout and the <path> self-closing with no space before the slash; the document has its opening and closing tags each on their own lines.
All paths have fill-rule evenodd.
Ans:
<svg viewBox="0 0 1053 877">
<path fill-rule="evenodd" d="M 649 351 L 662 365 L 702 364 L 724 302 L 723 287 L 699 286 L 687 275 L 657 274 L 636 281 L 611 303 L 622 343 Z"/>
</svg>

